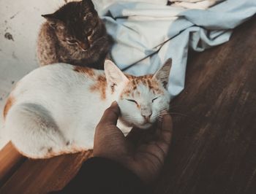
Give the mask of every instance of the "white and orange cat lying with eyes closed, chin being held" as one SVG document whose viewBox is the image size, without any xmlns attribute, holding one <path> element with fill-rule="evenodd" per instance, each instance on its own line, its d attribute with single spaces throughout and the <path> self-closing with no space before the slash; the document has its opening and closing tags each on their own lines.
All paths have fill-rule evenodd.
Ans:
<svg viewBox="0 0 256 194">
<path fill-rule="evenodd" d="M 155 74 L 126 75 L 111 61 L 105 71 L 57 63 L 23 77 L 4 108 L 4 131 L 29 158 L 50 158 L 93 147 L 105 109 L 118 102 L 118 126 L 148 128 L 169 109 L 171 60 Z"/>
</svg>

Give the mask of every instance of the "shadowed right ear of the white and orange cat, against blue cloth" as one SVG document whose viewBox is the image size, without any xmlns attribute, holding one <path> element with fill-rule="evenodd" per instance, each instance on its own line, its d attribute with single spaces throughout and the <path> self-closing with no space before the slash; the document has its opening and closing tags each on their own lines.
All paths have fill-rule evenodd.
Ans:
<svg viewBox="0 0 256 194">
<path fill-rule="evenodd" d="M 164 88 L 167 88 L 171 66 L 172 59 L 168 58 L 167 61 L 165 61 L 165 64 L 153 76 L 154 79 L 158 79 L 162 82 Z"/>
</svg>

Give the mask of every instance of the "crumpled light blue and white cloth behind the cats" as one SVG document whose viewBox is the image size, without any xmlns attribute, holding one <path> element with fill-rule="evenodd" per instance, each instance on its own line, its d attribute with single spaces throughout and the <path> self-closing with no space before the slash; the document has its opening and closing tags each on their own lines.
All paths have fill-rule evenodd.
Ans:
<svg viewBox="0 0 256 194">
<path fill-rule="evenodd" d="M 172 97 L 184 89 L 188 47 L 203 51 L 227 42 L 232 29 L 256 12 L 255 0 L 227 0 L 206 10 L 106 1 L 108 6 L 104 0 L 94 4 L 116 40 L 113 61 L 127 73 L 143 75 L 173 58 L 168 88 Z"/>
</svg>

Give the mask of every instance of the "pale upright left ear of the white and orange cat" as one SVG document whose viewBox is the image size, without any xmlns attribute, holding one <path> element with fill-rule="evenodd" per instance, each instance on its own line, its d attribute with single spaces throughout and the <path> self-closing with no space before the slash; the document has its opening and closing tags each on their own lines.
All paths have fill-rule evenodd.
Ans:
<svg viewBox="0 0 256 194">
<path fill-rule="evenodd" d="M 118 69 L 118 67 L 110 60 L 106 60 L 104 63 L 105 75 L 112 92 L 115 91 L 116 86 L 125 84 L 129 79 L 124 73 Z"/>
</svg>

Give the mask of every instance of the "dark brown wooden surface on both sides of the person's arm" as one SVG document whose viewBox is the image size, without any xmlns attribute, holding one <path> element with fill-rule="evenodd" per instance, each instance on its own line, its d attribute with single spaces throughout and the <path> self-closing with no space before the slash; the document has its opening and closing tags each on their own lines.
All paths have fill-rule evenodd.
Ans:
<svg viewBox="0 0 256 194">
<path fill-rule="evenodd" d="M 171 103 L 173 142 L 154 193 L 256 193 L 255 19 L 230 42 L 189 54 L 186 88 Z M 19 161 L 0 173 L 0 193 L 61 189 L 90 155 L 26 160 L 13 152 L 0 157 Z"/>
</svg>

